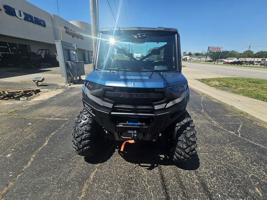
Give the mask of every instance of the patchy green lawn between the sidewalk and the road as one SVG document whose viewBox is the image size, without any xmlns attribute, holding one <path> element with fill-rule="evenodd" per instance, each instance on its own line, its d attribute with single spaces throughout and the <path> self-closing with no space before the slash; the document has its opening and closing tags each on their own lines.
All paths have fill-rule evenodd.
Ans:
<svg viewBox="0 0 267 200">
<path fill-rule="evenodd" d="M 197 80 L 211 87 L 231 88 L 235 91 L 228 92 L 267 102 L 267 80 L 265 79 L 226 77 Z"/>
</svg>

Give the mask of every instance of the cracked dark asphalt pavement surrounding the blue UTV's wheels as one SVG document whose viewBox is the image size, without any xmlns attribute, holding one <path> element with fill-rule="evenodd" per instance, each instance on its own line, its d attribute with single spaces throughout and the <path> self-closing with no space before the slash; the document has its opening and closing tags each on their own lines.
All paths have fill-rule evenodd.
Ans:
<svg viewBox="0 0 267 200">
<path fill-rule="evenodd" d="M 198 156 L 178 165 L 162 140 L 121 153 L 121 142 L 105 138 L 96 157 L 78 156 L 71 134 L 81 88 L 1 104 L 0 199 L 267 199 L 267 128 L 190 92 Z"/>
</svg>

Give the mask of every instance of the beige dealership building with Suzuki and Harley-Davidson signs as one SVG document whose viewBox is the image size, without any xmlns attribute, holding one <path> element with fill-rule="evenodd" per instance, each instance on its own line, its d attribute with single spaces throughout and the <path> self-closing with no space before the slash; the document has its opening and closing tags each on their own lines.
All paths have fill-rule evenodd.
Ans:
<svg viewBox="0 0 267 200">
<path fill-rule="evenodd" d="M 90 24 L 80 21 L 68 22 L 25 0 L 0 1 L 0 54 L 6 51 L 6 47 L 19 47 L 30 52 L 49 49 L 50 54 L 54 55 L 55 40 L 61 38 L 73 45 L 77 44 L 79 61 L 92 61 Z"/>
</svg>

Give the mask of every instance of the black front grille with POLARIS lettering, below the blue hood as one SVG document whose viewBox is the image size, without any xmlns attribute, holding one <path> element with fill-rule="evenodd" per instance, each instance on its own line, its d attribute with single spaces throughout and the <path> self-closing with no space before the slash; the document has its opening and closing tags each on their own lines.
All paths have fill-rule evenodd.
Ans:
<svg viewBox="0 0 267 200">
<path fill-rule="evenodd" d="M 153 105 L 165 100 L 165 95 L 157 89 L 114 87 L 104 92 L 104 98 L 116 105 Z"/>
</svg>

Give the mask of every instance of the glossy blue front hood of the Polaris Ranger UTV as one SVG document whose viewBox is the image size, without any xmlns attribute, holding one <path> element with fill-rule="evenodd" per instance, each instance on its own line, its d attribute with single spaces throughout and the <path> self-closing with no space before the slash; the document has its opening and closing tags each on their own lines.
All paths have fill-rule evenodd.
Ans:
<svg viewBox="0 0 267 200">
<path fill-rule="evenodd" d="M 94 70 L 86 79 L 110 87 L 164 88 L 187 83 L 178 72 L 125 72 Z"/>
</svg>

